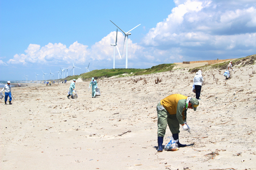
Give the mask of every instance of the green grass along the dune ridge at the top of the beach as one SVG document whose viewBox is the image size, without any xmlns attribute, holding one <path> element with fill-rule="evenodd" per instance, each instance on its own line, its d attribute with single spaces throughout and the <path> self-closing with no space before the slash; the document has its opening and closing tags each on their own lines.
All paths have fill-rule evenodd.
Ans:
<svg viewBox="0 0 256 170">
<path fill-rule="evenodd" d="M 209 69 L 219 69 L 225 70 L 226 66 L 228 65 L 229 61 L 223 63 L 217 63 L 212 65 L 205 65 L 201 67 L 196 67 L 190 69 L 189 72 L 197 72 L 198 70 L 209 70 Z M 256 54 L 250 55 L 243 58 L 238 58 L 233 60 L 233 66 L 244 67 L 247 65 L 252 65 L 256 63 Z M 65 80 L 72 80 L 82 78 L 83 80 L 90 80 L 92 77 L 96 79 L 102 77 L 125 77 L 125 76 L 133 76 L 133 75 L 143 75 L 143 74 L 151 74 L 151 73 L 160 73 L 160 72 L 168 72 L 173 70 L 176 64 L 160 64 L 157 66 L 153 66 L 150 69 L 102 69 L 102 70 L 94 70 L 88 73 L 82 73 L 80 75 L 72 75 L 67 76 Z M 64 79 L 60 79 L 61 81 Z"/>
</svg>

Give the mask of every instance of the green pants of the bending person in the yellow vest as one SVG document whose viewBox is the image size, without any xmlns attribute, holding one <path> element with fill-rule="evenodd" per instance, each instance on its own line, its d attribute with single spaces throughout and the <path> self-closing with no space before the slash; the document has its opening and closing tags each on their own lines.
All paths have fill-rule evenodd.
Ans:
<svg viewBox="0 0 256 170">
<path fill-rule="evenodd" d="M 170 115 L 166 109 L 159 110 L 158 106 L 161 106 L 160 102 L 157 105 L 158 136 L 165 135 L 167 123 L 172 134 L 180 133 L 180 123 L 176 115 Z"/>
</svg>

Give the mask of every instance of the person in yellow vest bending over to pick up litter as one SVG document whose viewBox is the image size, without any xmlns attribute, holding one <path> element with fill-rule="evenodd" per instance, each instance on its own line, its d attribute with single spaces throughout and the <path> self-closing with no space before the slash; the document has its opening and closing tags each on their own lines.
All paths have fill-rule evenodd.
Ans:
<svg viewBox="0 0 256 170">
<path fill-rule="evenodd" d="M 174 140 L 178 140 L 179 147 L 185 147 L 179 142 L 180 124 L 183 130 L 188 130 L 187 109 L 196 110 L 199 101 L 196 98 L 180 94 L 170 95 L 162 99 L 157 105 L 158 112 L 158 152 L 162 152 L 163 137 L 168 123 Z"/>
</svg>

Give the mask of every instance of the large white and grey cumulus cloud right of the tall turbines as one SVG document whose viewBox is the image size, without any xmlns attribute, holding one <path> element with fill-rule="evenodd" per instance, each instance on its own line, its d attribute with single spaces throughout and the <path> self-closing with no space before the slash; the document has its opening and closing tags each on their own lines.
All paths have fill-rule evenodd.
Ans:
<svg viewBox="0 0 256 170">
<path fill-rule="evenodd" d="M 175 53 L 177 60 L 183 58 L 181 56 L 198 56 L 198 50 L 208 50 L 215 54 L 220 53 L 220 50 L 232 50 L 233 54 L 235 51 L 242 54 L 244 50 L 255 49 L 255 0 L 174 2 L 176 7 L 172 9 L 171 14 L 150 29 L 143 38 L 143 47 L 165 49 L 169 52 L 173 48 L 180 48 L 182 50 Z"/>
</svg>

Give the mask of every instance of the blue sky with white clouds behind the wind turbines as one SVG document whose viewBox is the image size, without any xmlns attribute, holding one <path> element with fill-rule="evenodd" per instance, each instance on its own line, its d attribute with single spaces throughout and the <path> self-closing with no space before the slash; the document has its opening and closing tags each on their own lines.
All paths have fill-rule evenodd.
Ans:
<svg viewBox="0 0 256 170">
<path fill-rule="evenodd" d="M 117 27 L 128 68 L 256 54 L 256 0 L 1 0 L 0 80 L 113 68 Z M 117 45 L 123 50 L 118 29 Z M 125 68 L 116 50 L 115 68 Z M 66 73 L 65 73 L 66 74 Z"/>
</svg>

